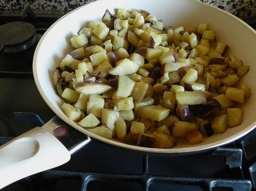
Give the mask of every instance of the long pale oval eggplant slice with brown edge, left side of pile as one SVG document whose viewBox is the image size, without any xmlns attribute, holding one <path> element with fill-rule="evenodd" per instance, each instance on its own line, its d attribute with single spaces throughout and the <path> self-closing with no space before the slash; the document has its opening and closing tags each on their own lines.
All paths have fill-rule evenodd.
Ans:
<svg viewBox="0 0 256 191">
<path fill-rule="evenodd" d="M 74 89 L 75 91 L 80 92 L 82 94 L 86 94 L 86 95 L 92 95 L 92 94 L 99 95 L 109 91 L 110 89 L 112 89 L 112 87 L 107 84 L 95 82 L 95 83 L 77 84 L 75 85 Z"/>
</svg>

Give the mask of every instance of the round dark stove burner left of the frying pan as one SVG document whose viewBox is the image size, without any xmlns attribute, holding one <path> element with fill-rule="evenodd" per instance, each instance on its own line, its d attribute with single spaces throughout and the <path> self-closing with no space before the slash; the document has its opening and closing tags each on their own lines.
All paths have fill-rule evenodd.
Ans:
<svg viewBox="0 0 256 191">
<path fill-rule="evenodd" d="M 0 44 L 5 45 L 4 53 L 25 51 L 35 42 L 35 27 L 30 23 L 10 22 L 0 26 Z"/>
</svg>

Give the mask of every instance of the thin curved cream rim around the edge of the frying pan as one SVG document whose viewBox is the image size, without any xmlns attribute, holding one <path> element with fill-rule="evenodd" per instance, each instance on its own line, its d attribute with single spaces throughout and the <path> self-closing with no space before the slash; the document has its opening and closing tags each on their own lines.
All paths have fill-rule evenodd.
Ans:
<svg viewBox="0 0 256 191">
<path fill-rule="evenodd" d="M 223 145 L 226 145 L 228 143 L 231 143 L 233 142 L 234 140 L 236 139 L 239 139 L 241 138 L 242 136 L 248 134 L 249 132 L 251 132 L 255 127 L 256 127 L 256 121 L 254 121 L 251 125 L 247 126 L 246 128 L 244 128 L 243 130 L 241 130 L 240 132 L 230 136 L 230 137 L 226 137 L 224 139 L 221 139 L 221 140 L 218 140 L 216 142 L 213 142 L 213 143 L 209 143 L 209 144 L 205 144 L 205 145 L 200 145 L 200 146 L 191 146 L 191 147 L 185 147 L 185 148 L 147 148 L 147 147 L 140 147 L 140 146 L 135 146 L 135 145 L 128 145 L 128 144 L 125 144 L 125 143 L 120 143 L 120 142 L 117 142 L 115 140 L 111 140 L 111 139 L 107 139 L 107 138 L 104 138 L 104 137 L 101 137 L 101 136 L 98 136 L 96 134 L 93 134 L 91 133 L 89 130 L 86 130 L 84 128 L 82 128 L 81 126 L 79 126 L 78 124 L 76 124 L 75 122 L 73 122 L 71 119 L 69 119 L 67 116 L 59 113 L 58 109 L 56 109 L 53 104 L 50 102 L 49 98 L 45 95 L 42 87 L 41 87 L 41 84 L 40 84 L 40 81 L 39 81 L 39 78 L 37 76 L 37 65 L 36 65 L 36 60 L 37 60 L 37 54 L 39 53 L 39 49 L 41 47 L 41 44 L 43 42 L 43 39 L 45 38 L 46 35 L 48 35 L 48 33 L 51 31 L 51 29 L 56 25 L 58 24 L 63 18 L 69 16 L 70 14 L 72 14 L 73 12 L 77 11 L 78 9 L 80 8 L 83 8 L 85 6 L 88 6 L 88 5 L 91 5 L 91 4 L 97 4 L 97 3 L 100 3 L 101 1 L 104 1 L 104 0 L 99 0 L 99 1 L 96 1 L 96 2 L 91 2 L 89 4 L 86 4 L 86 5 L 83 5 L 81 7 L 78 7 L 76 9 L 74 9 L 73 11 L 63 15 L 61 18 L 59 18 L 55 23 L 53 23 L 49 28 L 48 30 L 43 34 L 42 38 L 40 39 L 39 43 L 37 44 L 36 46 L 36 49 L 35 49 L 35 53 L 34 53 L 34 57 L 33 57 L 33 75 L 34 75 L 34 81 L 35 81 L 35 84 L 36 84 L 36 87 L 37 89 L 39 90 L 39 93 L 40 95 L 42 96 L 42 98 L 44 99 L 45 103 L 53 110 L 53 112 L 59 117 L 61 118 L 64 122 L 66 122 L 67 124 L 69 124 L 70 126 L 72 126 L 73 128 L 79 130 L 81 133 L 83 134 L 86 134 L 88 135 L 89 137 L 93 137 L 94 139 L 97 139 L 99 141 L 102 141 L 104 143 L 107 143 L 107 144 L 110 144 L 110 145 L 114 145 L 114 146 L 118 146 L 118 147 L 121 147 L 121 148 L 126 148 L 126 149 L 132 149 L 132 150 L 136 150 L 138 152 L 149 152 L 149 153 L 165 153 L 165 154 L 170 154 L 170 155 L 186 155 L 186 154 L 193 154 L 193 153 L 199 153 L 199 152 L 204 152 L 206 150 L 210 150 L 210 149 L 213 149 L 213 148 L 216 148 L 216 147 L 219 147 L 219 146 L 223 146 Z M 198 3 L 198 4 L 201 4 L 203 6 L 210 6 L 211 8 L 215 8 L 217 9 L 218 11 L 226 14 L 226 15 L 229 15 L 231 17 L 233 17 L 234 19 L 236 19 L 238 22 L 240 22 L 241 24 L 243 24 L 245 27 L 249 28 L 251 30 L 252 33 L 254 33 L 256 35 L 256 31 L 251 27 L 249 26 L 248 24 L 246 24 L 245 22 L 243 22 L 240 18 L 232 15 L 231 13 L 228 13 L 228 12 L 225 12 L 223 11 L 222 9 L 220 8 L 217 8 L 213 5 L 209 5 L 209 4 L 206 4 L 206 3 L 202 3 L 202 2 L 198 2 L 198 1 L 195 1 L 195 0 L 187 0 L 189 2 L 192 2 L 192 3 Z M 82 130 L 83 129 L 83 130 Z"/>
</svg>

